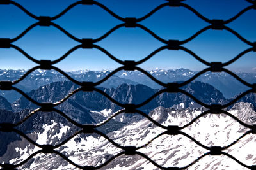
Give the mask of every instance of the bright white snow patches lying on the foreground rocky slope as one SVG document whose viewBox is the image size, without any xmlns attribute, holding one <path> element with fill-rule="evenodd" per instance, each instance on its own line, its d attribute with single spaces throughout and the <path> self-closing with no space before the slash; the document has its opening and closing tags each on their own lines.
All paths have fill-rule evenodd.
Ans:
<svg viewBox="0 0 256 170">
<path fill-rule="evenodd" d="M 191 103 L 193 105 L 193 103 Z M 184 103 L 180 103 L 180 106 L 184 108 Z M 243 106 L 243 105 L 241 105 Z M 163 125 L 186 125 L 197 115 L 202 113 L 202 110 L 184 110 L 184 114 L 186 117 L 182 117 L 181 114 L 178 114 L 179 110 L 169 109 L 168 118 L 161 122 Z M 183 110 L 182 110 L 183 111 Z M 233 115 L 243 115 L 249 113 L 250 107 L 244 106 L 240 110 L 229 110 Z M 108 116 L 112 111 L 106 109 L 100 111 L 102 115 Z M 177 113 L 177 114 L 176 114 Z M 255 114 L 255 111 L 253 112 Z M 161 117 L 160 108 L 156 108 L 154 115 L 152 118 L 157 119 Z M 121 118 L 123 120 L 123 117 Z M 48 139 L 47 132 L 51 132 L 54 130 L 54 127 L 57 125 L 56 122 L 52 121 L 51 125 L 43 125 L 44 132 L 42 132 L 36 142 L 41 144 L 45 144 Z M 69 130 L 69 127 L 60 124 L 60 132 L 58 134 L 54 134 L 51 138 L 55 136 L 57 138 L 61 138 L 62 134 Z M 139 122 L 134 122 L 130 125 L 125 125 L 122 129 L 118 131 L 111 132 L 107 134 L 109 138 L 113 139 L 115 143 L 118 143 L 122 146 L 143 146 L 148 141 L 154 139 L 158 134 L 164 132 L 165 130 L 161 127 L 152 126 L 152 123 L 144 118 Z M 248 131 L 248 129 L 244 128 L 238 122 L 236 122 L 233 118 L 228 117 L 227 115 L 211 115 L 208 114 L 205 117 L 200 117 L 196 122 L 185 129 L 182 129 L 182 132 L 186 132 L 192 138 L 195 138 L 196 141 L 199 141 L 205 146 L 227 146 L 230 143 L 236 141 L 239 136 L 244 134 L 244 132 Z M 79 138 L 81 141 L 76 142 L 76 138 Z M 256 148 L 255 148 L 256 136 L 254 134 L 249 134 L 244 138 L 240 139 L 235 145 L 228 148 L 227 150 L 223 150 L 223 152 L 227 152 L 230 155 L 236 157 L 236 159 L 241 160 L 244 164 L 253 165 L 256 164 Z M 81 166 L 84 165 L 93 165 L 99 166 L 106 161 L 106 158 L 102 157 L 102 155 L 108 153 L 111 155 L 116 155 L 121 152 L 120 148 L 116 148 L 113 144 L 109 143 L 108 140 L 103 138 L 102 136 L 86 136 L 85 138 L 81 138 L 80 135 L 72 138 L 68 141 L 61 150 L 61 153 L 72 153 L 67 154 L 68 159 L 72 160 L 76 164 Z M 22 153 L 22 159 L 26 159 L 31 151 L 28 151 L 28 148 L 25 148 L 24 151 L 19 148 L 15 148 L 17 152 Z M 35 151 L 35 150 L 34 150 Z M 33 151 L 33 152 L 34 152 Z M 141 148 L 138 152 L 145 153 L 150 159 L 154 160 L 157 164 L 163 167 L 169 166 L 177 166 L 184 167 L 198 157 L 203 155 L 204 153 L 209 152 L 204 148 L 196 145 L 193 141 L 186 136 L 178 135 L 167 135 L 164 134 L 157 139 L 154 139 L 152 143 Z M 42 154 L 44 155 L 44 154 Z M 40 159 L 45 159 L 45 162 L 40 162 L 37 164 L 52 164 L 54 162 L 54 157 L 47 157 L 44 155 L 42 157 L 41 154 L 36 155 L 36 157 L 40 157 Z M 36 158 L 35 157 L 35 158 Z M 129 160 L 133 156 L 125 156 L 118 157 L 115 160 L 120 160 L 121 162 L 129 162 Z M 49 160 L 47 160 L 49 158 Z M 12 160 L 14 162 L 15 160 Z M 30 168 L 36 167 L 37 164 L 31 164 Z M 131 164 L 127 164 L 126 166 L 122 166 L 121 164 L 115 165 L 112 169 L 138 169 L 138 167 L 143 167 L 143 169 L 157 169 L 153 164 L 148 162 L 146 159 L 136 160 Z M 60 166 L 59 169 L 72 169 L 74 166 Z M 204 157 L 204 159 L 200 159 L 193 166 L 188 169 L 245 169 L 239 164 L 237 164 L 234 160 L 228 159 L 227 156 L 212 156 L 209 155 Z"/>
</svg>

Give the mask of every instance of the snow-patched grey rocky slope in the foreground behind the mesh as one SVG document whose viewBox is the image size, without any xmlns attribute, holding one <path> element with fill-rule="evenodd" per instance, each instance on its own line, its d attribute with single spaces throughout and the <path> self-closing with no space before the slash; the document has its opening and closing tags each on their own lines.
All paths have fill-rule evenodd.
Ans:
<svg viewBox="0 0 256 170">
<path fill-rule="evenodd" d="M 174 108 L 157 107 L 150 112 L 157 122 L 163 125 L 186 125 L 196 115 L 199 115 L 205 108 L 187 108 L 177 110 Z M 230 113 L 238 117 L 246 124 L 255 124 L 256 113 L 250 103 L 236 103 L 230 110 Z M 76 130 L 75 127 L 53 118 L 50 122 L 41 124 L 40 131 L 28 132 L 28 136 L 40 144 L 56 145 L 68 138 Z M 240 125 L 233 118 L 227 115 L 206 115 L 194 122 L 189 127 L 182 129 L 193 138 L 205 146 L 227 146 L 236 141 L 247 128 Z M 107 135 L 116 143 L 122 146 L 142 146 L 151 139 L 164 132 L 164 129 L 152 124 L 146 118 L 125 125 L 121 129 L 109 132 Z M 235 145 L 223 150 L 236 157 L 246 165 L 256 163 L 255 149 L 256 137 L 254 134 L 248 134 L 240 139 Z M 10 159 L 10 163 L 18 164 L 26 159 L 31 153 L 36 152 L 39 148 L 31 145 L 26 139 L 13 141 L 8 145 L 7 152 L 0 157 L 0 162 Z M 76 164 L 80 166 L 99 166 L 106 160 L 120 153 L 122 150 L 112 145 L 105 138 L 99 135 L 77 135 L 68 143 L 57 148 Z M 15 153 L 13 153 L 15 152 Z M 155 139 L 149 145 L 141 148 L 138 152 L 145 153 L 150 159 L 163 167 L 184 167 L 193 162 L 199 156 L 208 152 L 204 148 L 196 145 L 193 141 L 180 134 L 176 136 L 164 134 Z M 12 154 L 10 154 L 12 153 Z M 20 155 L 20 157 L 17 157 Z M 7 162 L 6 162 L 7 163 Z M 77 169 L 68 164 L 67 161 L 55 154 L 40 153 L 29 160 L 27 164 L 19 169 Z M 156 166 L 143 159 L 140 155 L 121 155 L 108 166 L 102 169 L 158 169 Z M 245 169 L 232 159 L 225 155 L 212 156 L 208 155 L 200 159 L 188 169 Z"/>
</svg>

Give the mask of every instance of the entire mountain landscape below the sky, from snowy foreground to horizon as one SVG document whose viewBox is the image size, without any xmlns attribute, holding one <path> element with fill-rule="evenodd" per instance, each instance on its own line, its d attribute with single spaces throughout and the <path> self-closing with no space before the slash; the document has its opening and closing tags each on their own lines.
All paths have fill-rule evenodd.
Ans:
<svg viewBox="0 0 256 170">
<path fill-rule="evenodd" d="M 9 80 L 15 80 L 19 78 L 24 71 L 12 71 L 3 73 L 0 76 L 5 75 L 3 80 L 9 78 Z M 151 73 L 152 72 L 152 73 Z M 156 70 L 150 71 L 150 74 L 163 78 L 157 74 L 171 75 L 172 71 Z M 186 74 L 184 74 L 186 72 Z M 20 73 L 20 74 L 18 74 Z M 79 81 L 99 81 L 101 77 L 108 75 L 110 72 L 91 72 L 91 71 L 77 71 L 70 72 L 76 80 Z M 36 75 L 37 74 L 37 75 Z M 63 99 L 70 92 L 77 89 L 79 86 L 72 83 L 72 81 L 66 81 L 59 73 L 54 71 L 37 71 L 37 73 L 31 73 L 28 78 L 25 78 L 20 85 L 27 89 L 32 89 L 27 92 L 28 96 L 35 99 L 40 103 L 55 103 Z M 53 74 L 53 75 L 51 75 Z M 55 74 L 55 75 L 54 75 Z M 94 74 L 94 76 L 92 76 Z M 195 74 L 186 69 L 175 70 L 173 73 L 173 81 L 182 80 L 177 75 L 182 74 L 186 78 L 191 77 L 191 74 Z M 221 76 L 224 73 L 211 73 L 205 75 L 211 80 L 214 76 Z M 241 77 L 246 77 L 247 73 L 241 73 Z M 251 76 L 253 73 L 248 73 Z M 8 75 L 8 76 L 6 76 Z M 12 76 L 11 76 L 12 75 Z M 14 76 L 16 75 L 16 77 Z M 17 76 L 18 75 L 18 76 Z M 42 78 L 40 79 L 40 77 Z M 134 77 L 138 79 L 137 82 L 132 81 Z M 140 77 L 141 76 L 141 77 Z M 144 75 L 145 76 L 145 75 Z M 98 78 L 98 79 L 93 79 Z M 176 77 L 177 79 L 175 79 Z M 225 74 L 224 74 L 225 77 Z M 38 79 L 37 79 L 38 78 Z M 48 79 L 49 78 L 49 79 Z M 92 78 L 92 79 L 90 79 Z M 111 98 L 116 101 L 127 104 L 140 104 L 146 101 L 148 97 L 161 90 L 163 87 L 157 88 L 149 87 L 150 84 L 143 74 L 138 71 L 130 72 L 123 71 L 122 74 L 115 74 L 113 80 L 106 81 L 106 85 L 109 83 L 109 87 L 97 87 L 102 92 L 108 94 Z M 123 81 L 129 81 L 128 83 L 115 85 L 115 78 L 118 83 Z M 28 79 L 28 80 L 27 80 Z M 206 79 L 205 79 L 206 80 Z M 220 80 L 222 80 L 220 78 Z M 248 78 L 253 81 L 253 77 Z M 111 83 L 111 82 L 114 83 Z M 162 81 L 168 81 L 162 80 Z M 224 82 L 224 80 L 223 80 Z M 30 85 L 30 86 L 29 86 Z M 38 87 L 39 86 L 39 87 Z M 153 84 L 151 86 L 154 86 Z M 29 88 L 28 88 L 29 87 Z M 227 98 L 218 88 L 201 81 L 192 81 L 188 85 L 182 87 L 183 90 L 192 94 L 203 103 L 206 104 L 226 104 L 236 98 L 236 95 Z M 24 89 L 23 89 L 24 90 Z M 8 94 L 8 91 L 1 91 L 3 96 Z M 10 94 L 9 94 L 10 95 Z M 17 98 L 15 96 L 13 99 Z M 19 97 L 15 101 L 10 103 L 9 101 L 0 96 L 0 123 L 1 122 L 19 122 L 25 118 L 31 111 L 38 108 L 36 104 L 31 103 L 26 97 Z M 109 101 L 109 99 L 99 92 L 77 92 L 67 99 L 67 101 L 56 106 L 58 110 L 66 113 L 68 117 L 72 118 L 76 122 L 81 124 L 99 124 L 106 120 L 109 116 L 113 115 L 116 111 L 122 109 L 120 106 Z M 163 125 L 184 125 L 188 124 L 193 118 L 207 110 L 200 106 L 200 104 L 193 101 L 193 99 L 181 93 L 163 93 L 159 96 L 154 97 L 149 103 L 138 108 L 148 114 L 157 122 Z M 255 124 L 256 110 L 256 94 L 251 93 L 242 97 L 232 106 L 227 108 L 227 111 L 235 115 L 246 122 L 246 124 Z M 74 132 L 78 131 L 79 128 L 67 121 L 61 115 L 55 112 L 45 113 L 38 112 L 32 117 L 28 118 L 25 122 L 16 127 L 20 131 L 24 132 L 29 138 L 33 139 L 40 144 L 51 144 L 57 145 L 61 141 L 64 141 L 69 136 L 72 136 Z M 107 134 L 109 138 L 113 139 L 116 143 L 122 146 L 141 146 L 145 145 L 150 139 L 157 136 L 157 134 L 163 132 L 164 129 L 157 127 L 152 124 L 147 118 L 140 114 L 129 114 L 122 113 L 112 118 L 107 124 L 104 124 L 97 128 L 99 131 Z M 206 130 L 208 129 L 208 130 Z M 210 130 L 209 130 L 210 129 Z M 205 130 L 205 131 L 204 131 Z M 183 131 L 183 130 L 182 130 Z M 205 117 L 196 120 L 188 128 L 184 129 L 184 132 L 191 135 L 201 143 L 207 146 L 225 146 L 235 141 L 239 136 L 246 132 L 246 128 L 236 122 L 234 119 L 227 115 L 207 115 Z M 39 148 L 31 145 L 26 139 L 20 137 L 14 132 L 6 133 L 0 132 L 0 136 L 4 140 L 0 140 L 0 162 L 10 162 L 18 164 L 20 161 L 26 159 L 31 153 L 36 152 Z M 246 164 L 256 164 L 256 157 L 253 155 L 252 148 L 253 136 L 246 136 L 240 139 L 237 144 L 228 150 L 227 153 L 234 155 L 237 159 Z M 56 150 L 60 151 L 80 165 L 92 165 L 99 166 L 106 160 L 111 158 L 113 155 L 118 154 L 121 150 L 113 146 L 106 139 L 98 134 L 79 134 L 72 138 L 66 145 L 63 145 Z M 184 136 L 161 136 L 154 140 L 150 145 L 145 148 L 138 150 L 139 152 L 145 153 L 148 157 L 152 158 L 157 164 L 168 167 L 168 166 L 186 166 L 193 162 L 196 157 L 207 152 L 195 143 L 191 143 L 188 138 Z M 241 152 L 244 151 L 244 152 Z M 245 152 L 246 151 L 246 152 Z M 252 153 L 251 153 L 252 151 Z M 250 153 L 247 153 L 250 152 Z M 243 153 L 243 154 L 240 154 Z M 246 158 L 246 159 L 244 159 Z M 232 160 L 229 160 L 232 161 Z M 200 166 L 199 166 L 200 165 Z M 145 159 L 141 159 L 139 155 L 123 155 L 113 160 L 111 164 L 103 167 L 102 169 L 157 169 L 154 165 L 150 164 Z M 199 160 L 194 166 L 189 169 L 237 169 L 237 164 L 230 164 L 227 158 L 223 155 L 218 157 L 205 157 Z M 57 155 L 45 155 L 40 153 L 32 159 L 30 159 L 24 166 L 19 169 L 76 169 L 74 166 L 68 164 L 65 160 Z M 238 169 L 243 169 L 239 167 Z"/>
</svg>

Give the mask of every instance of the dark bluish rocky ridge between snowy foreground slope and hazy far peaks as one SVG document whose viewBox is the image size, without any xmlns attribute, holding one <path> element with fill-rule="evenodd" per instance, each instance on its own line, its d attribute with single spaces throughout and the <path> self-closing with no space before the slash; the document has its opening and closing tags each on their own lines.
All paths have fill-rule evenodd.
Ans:
<svg viewBox="0 0 256 170">
<path fill-rule="evenodd" d="M 28 93 L 28 96 L 40 103 L 54 103 L 63 99 L 70 92 L 77 89 L 77 87 L 79 86 L 75 85 L 71 81 L 55 82 L 39 87 L 36 90 L 32 90 Z M 104 87 L 98 88 L 108 94 L 111 98 L 123 104 L 143 103 L 160 90 L 151 89 L 150 87 L 141 84 L 122 84 L 115 89 L 108 89 Z M 219 90 L 215 89 L 211 85 L 208 85 L 207 83 L 201 83 L 200 81 L 189 83 L 188 85 L 182 87 L 182 89 L 186 90 L 203 103 L 220 104 L 226 100 Z M 183 108 L 195 108 L 198 106 L 198 104 L 196 105 L 193 99 L 184 94 L 165 92 L 159 96 L 156 96 L 154 99 L 152 99 L 152 101 L 150 101 L 148 104 L 145 104 L 145 106 L 141 106 L 139 109 L 148 113 L 157 106 L 172 107 L 180 103 L 184 105 L 182 106 Z M 28 101 L 26 97 L 22 96 L 19 100 L 12 103 L 12 108 L 17 112 L 24 109 L 35 109 L 38 108 L 38 106 Z M 73 115 L 70 116 L 74 118 L 77 117 L 76 115 L 81 115 L 85 112 L 90 113 L 90 111 L 102 111 L 104 109 L 111 109 L 113 112 L 115 112 L 121 109 L 120 106 L 112 103 L 107 97 L 99 94 L 99 92 L 77 92 L 69 99 L 67 99 L 67 101 L 60 104 L 58 108 L 66 113 L 72 113 Z"/>
</svg>

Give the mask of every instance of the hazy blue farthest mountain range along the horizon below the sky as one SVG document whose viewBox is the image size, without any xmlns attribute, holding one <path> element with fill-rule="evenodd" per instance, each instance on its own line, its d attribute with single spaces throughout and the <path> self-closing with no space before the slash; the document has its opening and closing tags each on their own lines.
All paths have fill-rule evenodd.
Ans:
<svg viewBox="0 0 256 170">
<path fill-rule="evenodd" d="M 155 78 L 163 82 L 173 82 L 173 81 L 186 81 L 189 78 L 193 77 L 196 71 L 191 71 L 189 69 L 175 69 L 175 70 L 163 70 L 156 69 L 152 71 L 147 71 L 152 74 Z M 0 69 L 0 80 L 17 80 L 25 74 L 25 70 L 3 70 Z M 67 72 L 72 78 L 77 81 L 99 81 L 102 78 L 106 77 L 111 71 L 69 71 Z M 255 73 L 236 73 L 237 76 L 242 78 L 245 81 L 253 83 L 256 81 Z M 36 70 L 33 71 L 29 76 L 27 76 L 24 80 L 20 81 L 16 85 L 20 89 L 24 90 L 24 92 L 30 92 L 33 89 L 37 89 L 42 85 L 47 85 L 49 83 L 53 83 L 56 81 L 65 81 L 67 78 L 62 74 L 56 71 L 42 71 Z M 223 95 L 227 98 L 233 97 L 240 92 L 244 92 L 248 89 L 248 87 L 239 83 L 235 78 L 228 75 L 227 73 L 211 73 L 207 72 L 202 76 L 196 78 L 197 81 L 202 81 L 204 83 L 209 83 L 212 86 L 219 89 Z M 152 81 L 150 78 L 145 76 L 145 74 L 140 71 L 119 71 L 114 74 L 104 83 L 100 84 L 100 87 L 118 87 L 118 85 L 127 83 L 127 84 L 144 84 L 152 89 L 161 88 L 157 83 Z M 11 91 L 0 91 L 0 95 L 6 97 L 8 101 L 11 103 L 19 99 L 20 94 L 11 90 Z"/>
</svg>

